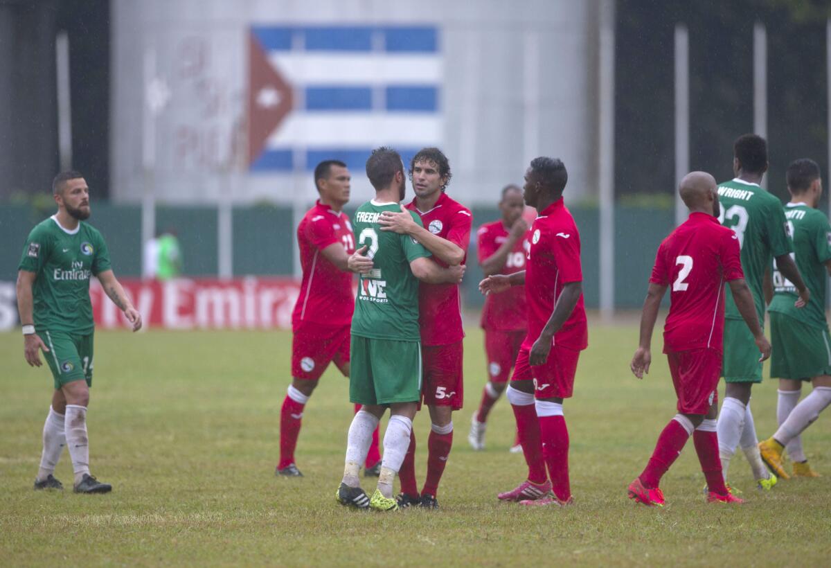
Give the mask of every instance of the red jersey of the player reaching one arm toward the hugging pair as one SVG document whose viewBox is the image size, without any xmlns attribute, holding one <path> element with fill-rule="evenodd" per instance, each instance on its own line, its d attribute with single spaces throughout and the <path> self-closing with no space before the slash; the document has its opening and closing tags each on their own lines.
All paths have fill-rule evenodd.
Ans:
<svg viewBox="0 0 831 568">
<path fill-rule="evenodd" d="M 580 234 L 563 198 L 548 205 L 531 225 L 531 248 L 525 269 L 525 301 L 528 304 L 528 335 L 523 348 L 530 349 L 554 311 L 554 305 L 569 282 L 582 282 Z M 554 344 L 582 350 L 588 347 L 588 326 L 583 294 L 568 319 L 554 333 Z"/>
</svg>

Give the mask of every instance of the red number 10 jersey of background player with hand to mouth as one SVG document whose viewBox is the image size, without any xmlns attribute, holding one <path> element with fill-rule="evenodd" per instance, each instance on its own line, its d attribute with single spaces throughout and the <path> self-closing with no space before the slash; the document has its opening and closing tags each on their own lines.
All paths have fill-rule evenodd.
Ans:
<svg viewBox="0 0 831 568">
<path fill-rule="evenodd" d="M 509 230 L 502 220 L 485 223 L 476 232 L 479 262 L 492 256 L 506 240 Z M 499 274 L 514 274 L 525 269 L 525 255 L 530 246 L 530 231 L 517 240 Z M 489 331 L 518 331 L 526 328 L 525 287 L 514 286 L 502 294 L 488 294 L 484 299 L 480 324 Z"/>
</svg>

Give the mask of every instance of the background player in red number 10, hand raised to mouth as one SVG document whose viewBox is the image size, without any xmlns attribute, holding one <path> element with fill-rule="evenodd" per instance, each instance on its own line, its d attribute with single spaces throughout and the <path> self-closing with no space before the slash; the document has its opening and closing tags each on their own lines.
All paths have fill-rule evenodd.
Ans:
<svg viewBox="0 0 831 568">
<path fill-rule="evenodd" d="M 506 185 L 499 200 L 502 219 L 486 223 L 476 232 L 479 266 L 485 276 L 513 274 L 525 269 L 530 235 L 528 223 L 523 219 L 524 207 L 522 190 L 516 185 Z M 508 384 L 519 346 L 525 338 L 524 287 L 515 286 L 505 294 L 488 295 L 480 325 L 484 329 L 484 353 L 490 378 L 484 383 L 482 402 L 470 422 L 468 442 L 475 450 L 484 450 L 488 413 Z"/>
</svg>

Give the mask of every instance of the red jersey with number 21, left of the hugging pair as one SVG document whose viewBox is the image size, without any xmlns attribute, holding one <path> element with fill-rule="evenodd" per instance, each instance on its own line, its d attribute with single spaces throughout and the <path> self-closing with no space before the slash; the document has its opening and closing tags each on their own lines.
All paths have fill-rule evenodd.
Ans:
<svg viewBox="0 0 831 568">
<path fill-rule="evenodd" d="M 332 243 L 341 243 L 347 254 L 355 252 L 349 217 L 318 200 L 297 226 L 303 279 L 292 314 L 295 329 L 302 322 L 342 326 L 352 321 L 352 273 L 337 269 L 320 253 Z"/>
</svg>

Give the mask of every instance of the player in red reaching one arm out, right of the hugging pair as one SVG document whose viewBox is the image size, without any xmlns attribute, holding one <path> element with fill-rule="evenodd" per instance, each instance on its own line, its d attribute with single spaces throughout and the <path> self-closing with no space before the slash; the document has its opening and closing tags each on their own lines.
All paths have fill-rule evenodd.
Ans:
<svg viewBox="0 0 831 568">
<path fill-rule="evenodd" d="M 503 501 L 523 505 L 558 506 L 572 501 L 563 399 L 572 396 L 580 351 L 588 346 L 588 328 L 580 234 L 563 204 L 567 181 L 562 161 L 546 157 L 531 161 L 523 197 L 538 217 L 531 225 L 527 268 L 509 275 L 493 274 L 479 283 L 484 294 L 525 285 L 528 334 L 506 396 L 514 410 L 529 475 L 519 487 L 499 494 Z"/>
</svg>

